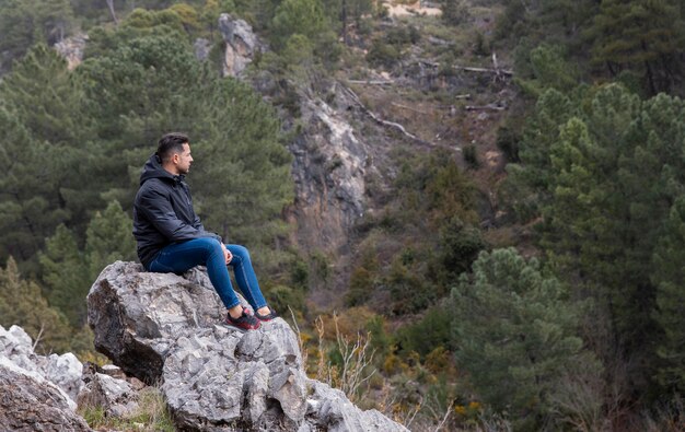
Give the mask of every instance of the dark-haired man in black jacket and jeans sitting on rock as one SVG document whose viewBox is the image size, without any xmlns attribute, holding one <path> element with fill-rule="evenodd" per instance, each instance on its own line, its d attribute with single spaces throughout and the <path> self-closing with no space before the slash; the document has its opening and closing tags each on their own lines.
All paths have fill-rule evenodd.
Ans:
<svg viewBox="0 0 685 432">
<path fill-rule="evenodd" d="M 140 175 L 140 189 L 133 205 L 133 235 L 138 257 L 148 271 L 183 273 L 205 265 L 212 285 L 228 310 L 227 324 L 244 330 L 259 328 L 260 322 L 276 317 L 262 294 L 249 253 L 240 245 L 224 245 L 221 237 L 205 231 L 193 209 L 185 175 L 193 156 L 188 137 L 167 133 Z M 227 266 L 254 315 L 244 308 L 233 288 Z"/>
</svg>

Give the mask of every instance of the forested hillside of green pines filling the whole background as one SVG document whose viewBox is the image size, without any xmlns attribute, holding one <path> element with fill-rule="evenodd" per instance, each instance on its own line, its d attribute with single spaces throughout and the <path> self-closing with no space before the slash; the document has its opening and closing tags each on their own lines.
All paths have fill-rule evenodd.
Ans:
<svg viewBox="0 0 685 432">
<path fill-rule="evenodd" d="M 205 225 L 251 247 L 310 374 L 360 406 L 411 430 L 685 429 L 685 1 L 390 12 L 407 3 L 0 0 L 0 325 L 106 361 L 85 295 L 137 259 L 140 170 L 182 130 Z M 269 47 L 241 79 L 222 73 L 221 13 Z M 71 67 L 55 45 L 77 35 Z M 307 249 L 288 218 L 303 98 L 411 75 L 417 56 L 434 80 L 386 90 L 404 105 L 356 91 L 458 151 L 391 136 L 376 211 L 339 254 Z M 421 117 L 429 105 L 463 114 Z"/>
</svg>

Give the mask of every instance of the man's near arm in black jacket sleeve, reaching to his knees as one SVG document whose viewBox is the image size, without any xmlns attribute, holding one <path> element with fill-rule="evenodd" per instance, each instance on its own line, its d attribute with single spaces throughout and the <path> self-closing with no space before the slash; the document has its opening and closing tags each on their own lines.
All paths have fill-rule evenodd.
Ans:
<svg viewBox="0 0 685 432">
<path fill-rule="evenodd" d="M 199 225 L 200 230 L 198 230 L 179 220 L 169 199 L 158 190 L 149 189 L 140 196 L 139 210 L 142 211 L 155 229 L 172 242 L 201 237 L 212 237 L 221 242 L 221 237 L 205 231 L 201 224 Z M 197 215 L 196 221 L 199 221 Z"/>
</svg>

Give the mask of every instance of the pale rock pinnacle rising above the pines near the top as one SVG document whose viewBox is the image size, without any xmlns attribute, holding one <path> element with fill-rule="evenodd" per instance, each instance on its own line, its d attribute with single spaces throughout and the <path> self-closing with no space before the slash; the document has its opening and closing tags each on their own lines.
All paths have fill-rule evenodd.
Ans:
<svg viewBox="0 0 685 432">
<path fill-rule="evenodd" d="M 228 13 L 219 16 L 219 31 L 225 42 L 223 75 L 240 77 L 252 62 L 253 56 L 265 49 L 264 44 L 259 42 L 247 22 L 234 19 Z"/>
</svg>

